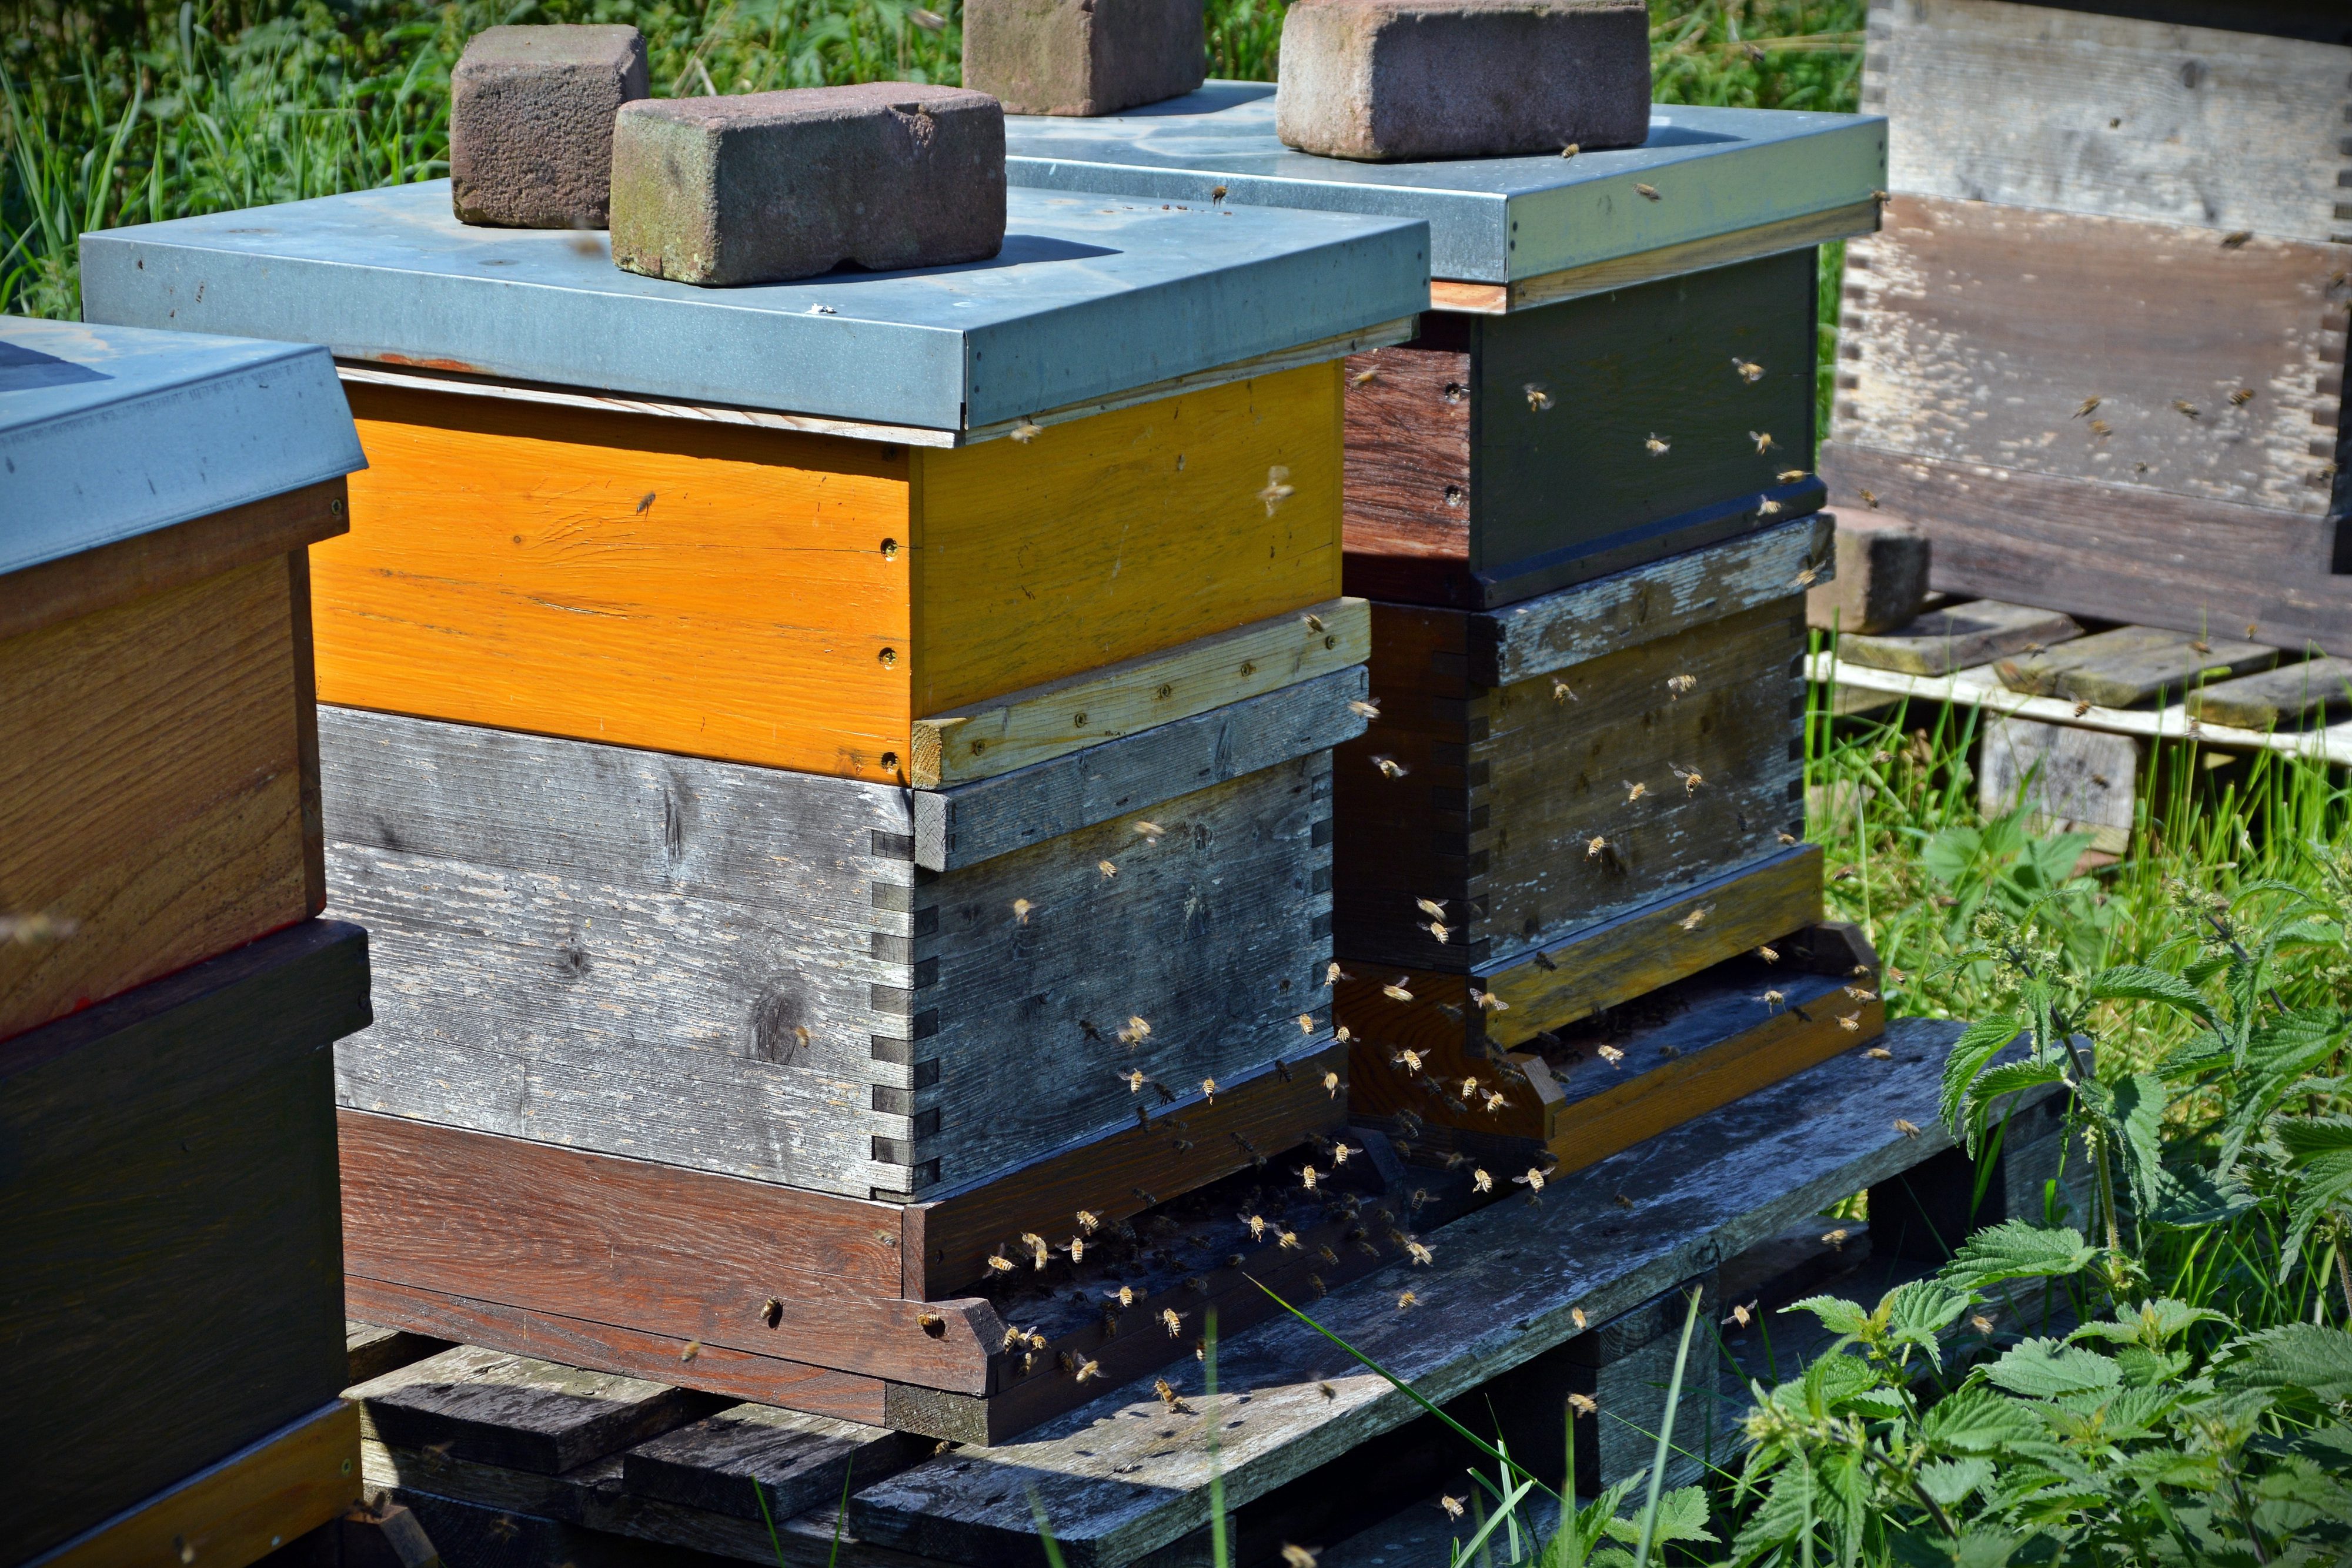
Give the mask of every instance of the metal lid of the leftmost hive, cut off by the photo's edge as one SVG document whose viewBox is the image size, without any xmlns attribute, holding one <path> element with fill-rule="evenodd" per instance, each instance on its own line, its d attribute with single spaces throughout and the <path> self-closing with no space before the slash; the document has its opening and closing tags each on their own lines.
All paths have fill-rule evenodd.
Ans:
<svg viewBox="0 0 2352 1568">
<path fill-rule="evenodd" d="M 355 468 L 325 348 L 0 315 L 0 574 Z"/>
</svg>

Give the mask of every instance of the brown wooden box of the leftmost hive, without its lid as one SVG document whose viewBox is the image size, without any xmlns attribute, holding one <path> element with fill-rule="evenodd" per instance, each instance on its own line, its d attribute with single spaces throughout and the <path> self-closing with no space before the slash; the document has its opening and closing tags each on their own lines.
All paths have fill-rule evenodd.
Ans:
<svg viewBox="0 0 2352 1568">
<path fill-rule="evenodd" d="M 299 555 L 0 642 L 0 1037 L 315 910 Z"/>
</svg>

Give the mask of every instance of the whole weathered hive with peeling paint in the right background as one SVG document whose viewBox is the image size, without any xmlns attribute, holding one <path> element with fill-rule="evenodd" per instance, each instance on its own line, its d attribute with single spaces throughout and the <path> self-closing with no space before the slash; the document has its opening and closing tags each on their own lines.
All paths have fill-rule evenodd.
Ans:
<svg viewBox="0 0 2352 1568">
<path fill-rule="evenodd" d="M 2352 651 L 2347 45 L 2340 7 L 1875 2 L 1839 505 L 1950 592 Z"/>
</svg>

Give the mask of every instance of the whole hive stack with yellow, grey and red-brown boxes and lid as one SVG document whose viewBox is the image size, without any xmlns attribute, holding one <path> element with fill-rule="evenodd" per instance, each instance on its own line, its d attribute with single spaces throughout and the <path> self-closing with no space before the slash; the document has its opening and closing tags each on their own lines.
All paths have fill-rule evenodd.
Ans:
<svg viewBox="0 0 2352 1568">
<path fill-rule="evenodd" d="M 1240 1274 L 1105 1305 L 1131 1218 L 1345 1114 L 1341 357 L 1421 223 L 1016 193 L 993 263 L 715 294 L 423 186 L 87 277 L 353 360 L 360 1314 L 978 1439 L 1188 1354 Z"/>
</svg>

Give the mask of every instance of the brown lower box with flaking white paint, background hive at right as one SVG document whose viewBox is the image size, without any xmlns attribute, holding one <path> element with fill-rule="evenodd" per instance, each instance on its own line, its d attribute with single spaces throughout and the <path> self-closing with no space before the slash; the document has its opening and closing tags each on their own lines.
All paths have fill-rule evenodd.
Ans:
<svg viewBox="0 0 2352 1568">
<path fill-rule="evenodd" d="M 2328 244 L 2230 237 L 1893 197 L 1886 228 L 1846 254 L 1832 440 L 2098 480 L 2126 487 L 2117 501 L 2129 494 L 2129 505 L 2169 496 L 2197 503 L 2192 515 L 2326 517 L 2343 259 Z M 2239 393 L 2251 397 L 2232 402 Z M 1936 510 L 1886 505 L 1943 543 Z"/>
</svg>

